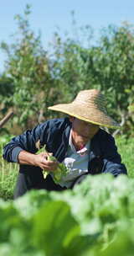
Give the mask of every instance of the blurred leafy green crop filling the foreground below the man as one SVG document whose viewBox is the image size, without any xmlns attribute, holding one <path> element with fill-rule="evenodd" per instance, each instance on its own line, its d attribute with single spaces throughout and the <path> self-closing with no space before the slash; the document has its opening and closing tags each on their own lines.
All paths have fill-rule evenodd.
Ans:
<svg viewBox="0 0 134 256">
<path fill-rule="evenodd" d="M 132 256 L 133 185 L 125 175 L 89 175 L 73 191 L 1 200 L 1 255 Z"/>
</svg>

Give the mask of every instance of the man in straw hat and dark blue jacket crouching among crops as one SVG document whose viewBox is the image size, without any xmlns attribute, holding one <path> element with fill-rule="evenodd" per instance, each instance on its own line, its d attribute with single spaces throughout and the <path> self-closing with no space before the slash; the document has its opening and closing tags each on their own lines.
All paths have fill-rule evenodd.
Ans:
<svg viewBox="0 0 134 256">
<path fill-rule="evenodd" d="M 87 174 L 112 173 L 116 177 L 127 173 L 114 138 L 100 128 L 120 126 L 107 114 L 105 97 L 100 91 L 80 91 L 72 103 L 57 104 L 49 109 L 69 117 L 47 120 L 14 137 L 4 147 L 4 159 L 19 164 L 14 198 L 30 189 L 71 189 Z M 49 161 L 46 152 L 37 154 L 44 145 L 47 152 L 56 157 L 56 162 Z M 55 184 L 53 173 L 59 163 L 64 163 L 70 172 Z M 43 169 L 49 171 L 46 179 Z"/>
</svg>

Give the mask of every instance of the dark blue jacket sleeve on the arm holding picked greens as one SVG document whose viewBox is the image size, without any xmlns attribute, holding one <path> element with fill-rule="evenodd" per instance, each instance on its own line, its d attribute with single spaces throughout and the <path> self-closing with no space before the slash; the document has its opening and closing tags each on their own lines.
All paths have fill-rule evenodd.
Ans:
<svg viewBox="0 0 134 256">
<path fill-rule="evenodd" d="M 31 153 L 37 152 L 36 142 L 44 141 L 45 144 L 48 134 L 49 121 L 37 125 L 33 130 L 25 131 L 20 136 L 13 137 L 12 141 L 3 148 L 3 158 L 8 162 L 18 163 L 19 152 L 23 150 Z"/>
</svg>

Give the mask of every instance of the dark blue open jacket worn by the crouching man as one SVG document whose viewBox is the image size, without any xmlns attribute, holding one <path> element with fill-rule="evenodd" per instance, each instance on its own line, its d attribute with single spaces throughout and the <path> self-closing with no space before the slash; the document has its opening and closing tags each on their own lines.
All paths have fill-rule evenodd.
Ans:
<svg viewBox="0 0 134 256">
<path fill-rule="evenodd" d="M 22 150 L 36 153 L 36 142 L 40 141 L 43 147 L 46 144 L 48 152 L 53 152 L 59 162 L 64 160 L 69 145 L 71 123 L 68 118 L 48 120 L 37 125 L 33 130 L 25 131 L 10 141 L 3 151 L 3 157 L 8 162 L 18 163 L 18 154 Z M 29 165 L 20 165 L 20 172 L 26 169 L 37 168 Z M 114 138 L 106 131 L 99 130 L 90 142 L 89 166 L 90 174 L 112 173 L 117 176 L 127 173 L 121 163 L 121 156 L 117 152 Z"/>
</svg>

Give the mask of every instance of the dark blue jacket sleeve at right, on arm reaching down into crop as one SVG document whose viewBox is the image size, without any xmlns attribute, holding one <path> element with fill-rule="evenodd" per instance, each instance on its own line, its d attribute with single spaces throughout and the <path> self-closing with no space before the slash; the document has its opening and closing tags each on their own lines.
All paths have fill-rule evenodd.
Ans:
<svg viewBox="0 0 134 256">
<path fill-rule="evenodd" d="M 102 172 L 112 173 L 115 177 L 121 173 L 127 174 L 126 166 L 121 163 L 121 155 L 117 152 L 113 136 L 106 133 L 101 143 L 101 151 L 104 159 Z"/>
</svg>

